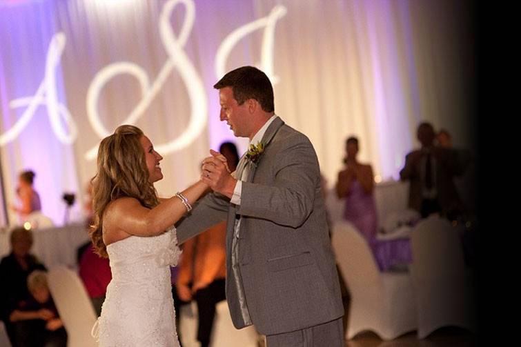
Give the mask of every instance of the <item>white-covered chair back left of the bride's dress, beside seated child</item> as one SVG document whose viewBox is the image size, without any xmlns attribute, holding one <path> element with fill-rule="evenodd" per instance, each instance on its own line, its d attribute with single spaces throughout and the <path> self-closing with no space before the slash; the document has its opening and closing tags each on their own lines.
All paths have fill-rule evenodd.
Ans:
<svg viewBox="0 0 521 347">
<path fill-rule="evenodd" d="M 63 326 L 67 330 L 67 346 L 97 346 L 90 335 L 97 319 L 96 313 L 77 273 L 66 266 L 56 266 L 49 270 L 48 284 Z"/>
</svg>

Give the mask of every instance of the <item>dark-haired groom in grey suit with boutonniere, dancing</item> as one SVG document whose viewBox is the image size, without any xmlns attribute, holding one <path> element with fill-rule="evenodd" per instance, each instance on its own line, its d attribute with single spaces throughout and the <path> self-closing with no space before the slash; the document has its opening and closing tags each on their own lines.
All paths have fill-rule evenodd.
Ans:
<svg viewBox="0 0 521 347">
<path fill-rule="evenodd" d="M 226 299 L 236 328 L 255 325 L 267 347 L 345 346 L 313 145 L 275 115 L 264 72 L 237 68 L 214 88 L 221 121 L 253 147 L 233 174 L 211 151 L 202 176 L 213 193 L 177 226 L 177 239 L 228 221 Z"/>
</svg>

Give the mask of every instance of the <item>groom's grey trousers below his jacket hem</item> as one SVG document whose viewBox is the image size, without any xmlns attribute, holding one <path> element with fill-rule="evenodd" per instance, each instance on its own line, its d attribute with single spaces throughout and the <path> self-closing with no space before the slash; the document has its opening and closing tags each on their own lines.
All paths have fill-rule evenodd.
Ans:
<svg viewBox="0 0 521 347">
<path fill-rule="evenodd" d="M 266 336 L 266 347 L 344 347 L 342 317 L 310 328 Z"/>
</svg>

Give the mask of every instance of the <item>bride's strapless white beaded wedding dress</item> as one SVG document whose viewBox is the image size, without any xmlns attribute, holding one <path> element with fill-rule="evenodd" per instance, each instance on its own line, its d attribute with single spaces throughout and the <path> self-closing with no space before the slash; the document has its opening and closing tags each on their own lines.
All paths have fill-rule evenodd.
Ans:
<svg viewBox="0 0 521 347">
<path fill-rule="evenodd" d="M 170 266 L 181 250 L 175 228 L 107 246 L 112 281 L 92 335 L 101 347 L 179 346 Z"/>
</svg>

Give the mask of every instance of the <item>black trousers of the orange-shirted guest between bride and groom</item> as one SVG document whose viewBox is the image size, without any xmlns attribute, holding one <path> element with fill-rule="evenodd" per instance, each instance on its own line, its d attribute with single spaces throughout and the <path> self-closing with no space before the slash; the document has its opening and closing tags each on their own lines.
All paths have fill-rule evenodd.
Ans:
<svg viewBox="0 0 521 347">
<path fill-rule="evenodd" d="M 199 289 L 195 293 L 198 312 L 197 340 L 201 342 L 201 347 L 207 347 L 210 344 L 215 305 L 226 299 L 225 284 L 225 279 L 216 279 L 206 288 Z"/>
</svg>

